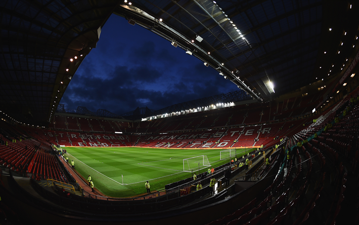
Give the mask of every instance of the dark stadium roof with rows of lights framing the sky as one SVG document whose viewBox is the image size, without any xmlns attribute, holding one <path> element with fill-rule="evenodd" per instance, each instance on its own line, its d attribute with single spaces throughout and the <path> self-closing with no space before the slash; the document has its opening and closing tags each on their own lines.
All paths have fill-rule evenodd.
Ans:
<svg viewBox="0 0 359 225">
<path fill-rule="evenodd" d="M 357 1 L 8 0 L 0 6 L 0 108 L 33 125 L 52 120 L 112 13 L 191 52 L 258 101 L 338 76 L 358 50 Z"/>
</svg>

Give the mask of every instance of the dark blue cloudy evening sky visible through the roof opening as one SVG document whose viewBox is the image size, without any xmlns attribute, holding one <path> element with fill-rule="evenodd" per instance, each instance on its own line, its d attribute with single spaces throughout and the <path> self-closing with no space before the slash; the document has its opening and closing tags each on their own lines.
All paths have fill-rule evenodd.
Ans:
<svg viewBox="0 0 359 225">
<path fill-rule="evenodd" d="M 239 90 L 195 56 L 157 34 L 112 15 L 77 69 L 60 103 L 121 115 Z"/>
</svg>

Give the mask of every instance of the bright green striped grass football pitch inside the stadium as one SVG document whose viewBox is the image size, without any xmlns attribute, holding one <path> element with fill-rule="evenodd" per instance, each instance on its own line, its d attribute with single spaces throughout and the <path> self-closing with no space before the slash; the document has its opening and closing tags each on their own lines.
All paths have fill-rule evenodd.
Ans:
<svg viewBox="0 0 359 225">
<path fill-rule="evenodd" d="M 95 187 L 104 195 L 123 198 L 146 192 L 148 180 L 151 191 L 163 190 L 164 185 L 191 177 L 183 172 L 183 159 L 206 155 L 211 167 L 228 163 L 219 160 L 223 149 L 173 149 L 140 147 L 65 147 L 69 162 L 84 177 L 91 175 Z M 249 148 L 249 152 L 254 148 Z M 237 149 L 241 157 L 248 148 Z M 204 168 L 201 172 L 207 171 Z M 197 173 L 198 174 L 198 173 Z M 123 175 L 123 184 L 122 184 Z"/>
</svg>

